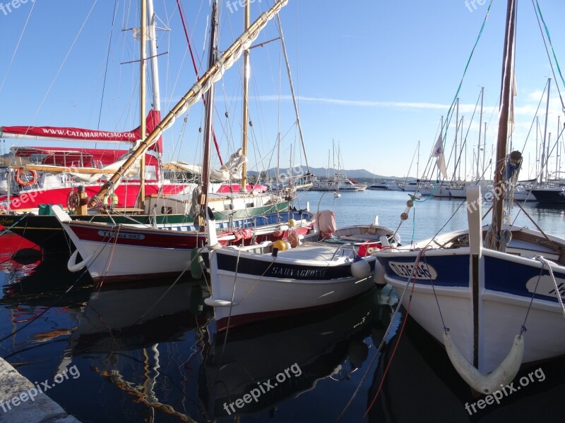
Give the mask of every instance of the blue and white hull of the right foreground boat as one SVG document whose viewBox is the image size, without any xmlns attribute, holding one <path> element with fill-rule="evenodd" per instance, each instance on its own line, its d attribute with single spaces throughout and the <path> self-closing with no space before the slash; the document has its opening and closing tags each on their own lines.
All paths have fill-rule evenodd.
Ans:
<svg viewBox="0 0 565 423">
<path fill-rule="evenodd" d="M 418 254 L 378 254 L 386 271 L 386 281 L 399 298 L 407 285 L 408 290 L 412 290 L 413 280 L 409 282 L 408 278 Z M 565 338 L 561 334 L 565 333 L 565 319 L 548 271 L 542 271 L 536 289 L 542 266 L 539 261 L 492 250 L 483 250 L 482 254 L 480 273 L 484 274 L 484 289 L 480 290 L 478 314 L 479 370 L 492 372 L 504 360 L 526 315 L 523 363 L 564 355 Z M 474 326 L 470 259 L 468 248 L 457 252 L 426 252 L 418 264 L 412 299 L 405 295 L 403 305 L 415 321 L 441 343 L 445 324 L 460 353 L 472 363 Z M 563 293 L 565 268 L 556 265 L 553 269 Z"/>
</svg>

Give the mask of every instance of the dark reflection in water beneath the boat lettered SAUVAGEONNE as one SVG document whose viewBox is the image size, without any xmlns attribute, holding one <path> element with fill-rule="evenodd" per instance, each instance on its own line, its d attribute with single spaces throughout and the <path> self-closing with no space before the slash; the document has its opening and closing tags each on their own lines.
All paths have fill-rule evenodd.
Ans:
<svg viewBox="0 0 565 423">
<path fill-rule="evenodd" d="M 198 391 L 206 417 L 233 419 L 269 410 L 273 418 L 280 403 L 311 390 L 322 379 L 349 381 L 369 355 L 364 338 L 371 329 L 388 326 L 387 294 L 375 288 L 340 307 L 218 333 L 204 351 L 200 368 Z M 351 382 L 352 391 L 357 383 Z M 278 419 L 297 421 L 299 416 L 287 414 L 300 409 L 302 419 L 311 412 L 316 421 L 333 421 L 347 399 L 341 396 L 337 408 L 321 407 L 311 398 L 307 407 L 302 402 L 285 403 Z M 364 407 L 365 399 L 359 400 Z"/>
</svg>

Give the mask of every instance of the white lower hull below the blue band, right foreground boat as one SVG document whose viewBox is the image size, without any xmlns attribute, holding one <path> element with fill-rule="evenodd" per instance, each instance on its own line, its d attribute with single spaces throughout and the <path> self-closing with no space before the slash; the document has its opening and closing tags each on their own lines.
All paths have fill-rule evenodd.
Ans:
<svg viewBox="0 0 565 423">
<path fill-rule="evenodd" d="M 403 292 L 405 283 L 398 283 L 386 277 L 386 281 L 393 286 L 397 295 Z M 468 289 L 445 290 L 436 287 L 436 294 L 441 306 L 449 333 L 465 359 L 472 362 L 472 327 L 467 322 L 472 321 L 472 305 Z M 520 333 L 521 320 L 528 311 L 529 302 L 524 298 L 508 297 L 493 291 L 486 291 L 482 295 L 483 326 L 481 337 L 482 360 L 480 371 L 492 372 L 508 355 L 514 336 Z M 409 299 L 403 300 L 404 307 L 408 307 Z M 523 362 L 536 362 L 559 357 L 565 354 L 565 319 L 559 316 L 558 305 L 547 305 L 534 302 L 526 327 L 528 332 L 524 335 Z M 410 305 L 410 315 L 427 332 L 432 334 L 437 341 L 444 342 L 444 328 L 441 324 L 436 298 L 432 288 L 416 286 Z"/>
</svg>

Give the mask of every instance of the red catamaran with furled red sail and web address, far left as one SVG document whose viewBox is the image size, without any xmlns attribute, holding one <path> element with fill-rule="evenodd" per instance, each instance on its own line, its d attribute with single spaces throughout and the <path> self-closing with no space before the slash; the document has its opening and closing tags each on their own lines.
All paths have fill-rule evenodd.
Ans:
<svg viewBox="0 0 565 423">
<path fill-rule="evenodd" d="M 153 2 L 148 5 L 153 18 Z M 155 26 L 150 26 L 155 30 Z M 153 33 L 153 35 L 155 35 Z M 143 132 L 149 132 L 161 121 L 160 86 L 157 67 L 156 37 L 149 37 L 151 57 L 151 78 L 153 98 L 150 111 L 141 107 L 140 125 L 129 131 L 100 130 L 53 126 L 1 126 L 0 137 L 15 140 L 64 141 L 64 142 L 107 142 L 128 145 L 132 149 Z M 142 48 L 145 48 L 142 43 Z M 144 54 L 145 56 L 145 54 Z M 145 60 L 141 60 L 142 66 Z M 145 84 L 145 78 L 140 80 Z M 22 158 L 35 158 L 36 163 L 20 162 L 10 166 L 6 176 L 6 190 L 0 195 L 0 212 L 41 212 L 42 204 L 64 204 L 70 212 L 74 211 L 72 199 L 79 185 L 85 188 L 88 197 L 94 196 L 105 180 L 112 176 L 123 164 L 128 150 L 85 149 L 82 147 L 13 147 L 13 161 Z M 136 163 L 136 167 L 126 173 L 126 178 L 115 185 L 111 195 L 101 198 L 104 205 L 111 205 L 116 212 L 128 212 L 137 208 L 145 195 L 170 195 L 189 188 L 186 183 L 172 183 L 162 174 L 162 140 L 159 139 L 147 154 Z M 113 154 L 112 154 L 113 153 Z M 106 157 L 112 157 L 108 161 Z M 194 185 L 192 185 L 194 188 Z M 136 210 L 140 212 L 140 210 Z M 141 210 L 143 212 L 143 210 Z M 54 218 L 48 218 L 54 221 Z"/>
</svg>

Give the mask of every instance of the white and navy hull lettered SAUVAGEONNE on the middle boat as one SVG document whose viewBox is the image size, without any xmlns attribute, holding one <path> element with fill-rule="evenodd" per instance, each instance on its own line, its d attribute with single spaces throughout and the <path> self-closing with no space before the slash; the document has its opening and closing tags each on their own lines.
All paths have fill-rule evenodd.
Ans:
<svg viewBox="0 0 565 423">
<path fill-rule="evenodd" d="M 215 307 L 218 331 L 335 305 L 374 286 L 374 257 L 367 257 L 371 275 L 358 279 L 351 262 L 285 259 L 283 253 L 274 258 L 230 248 L 210 252 L 212 297 L 206 304 Z"/>
</svg>

